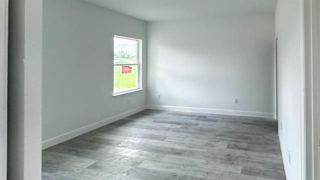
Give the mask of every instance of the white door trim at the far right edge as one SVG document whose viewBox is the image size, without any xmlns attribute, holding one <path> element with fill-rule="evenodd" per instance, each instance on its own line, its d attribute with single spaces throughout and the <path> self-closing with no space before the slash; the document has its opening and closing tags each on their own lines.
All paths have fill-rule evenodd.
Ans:
<svg viewBox="0 0 320 180">
<path fill-rule="evenodd" d="M 302 0 L 301 52 L 304 63 L 304 119 L 301 120 L 301 168 L 304 179 L 319 179 L 318 174 L 318 85 L 319 68 L 317 48 L 317 2 L 318 0 Z M 301 64 L 302 65 L 302 64 Z M 301 67 L 302 68 L 302 67 Z M 302 82 L 301 82 L 302 83 Z M 303 121 L 303 122 L 302 122 Z M 303 123 L 303 124 L 302 124 Z M 304 131 L 302 131 L 302 125 Z M 303 132 L 303 133 L 302 133 Z M 302 143 L 303 142 L 303 143 Z"/>
</svg>

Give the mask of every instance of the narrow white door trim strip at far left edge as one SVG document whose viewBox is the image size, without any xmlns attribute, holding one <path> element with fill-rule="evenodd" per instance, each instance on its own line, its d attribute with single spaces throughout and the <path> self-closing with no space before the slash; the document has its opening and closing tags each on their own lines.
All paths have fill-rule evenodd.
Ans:
<svg viewBox="0 0 320 180">
<path fill-rule="evenodd" d="M 6 179 L 8 0 L 0 1 L 0 179 Z"/>
</svg>

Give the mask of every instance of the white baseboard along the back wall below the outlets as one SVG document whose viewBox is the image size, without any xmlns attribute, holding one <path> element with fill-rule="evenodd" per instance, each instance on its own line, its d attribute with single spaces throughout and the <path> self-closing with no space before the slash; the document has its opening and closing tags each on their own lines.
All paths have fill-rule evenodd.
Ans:
<svg viewBox="0 0 320 180">
<path fill-rule="evenodd" d="M 274 113 L 269 113 L 269 112 L 253 112 L 253 111 L 211 109 L 211 108 L 198 108 L 198 107 L 180 107 L 180 106 L 169 106 L 169 105 L 146 105 L 146 108 L 155 109 L 155 110 L 171 110 L 171 111 L 183 111 L 183 112 L 239 115 L 239 116 L 264 117 L 264 118 L 274 119 Z"/>
</svg>

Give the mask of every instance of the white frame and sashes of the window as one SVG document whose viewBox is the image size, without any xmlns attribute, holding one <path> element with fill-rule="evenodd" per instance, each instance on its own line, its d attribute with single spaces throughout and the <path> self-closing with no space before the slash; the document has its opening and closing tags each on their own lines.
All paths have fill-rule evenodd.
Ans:
<svg viewBox="0 0 320 180">
<path fill-rule="evenodd" d="M 132 38 L 132 37 L 125 37 L 125 36 L 120 36 L 120 35 L 114 35 L 116 38 L 122 38 L 122 39 L 128 39 L 128 40 L 134 40 L 137 42 L 136 45 L 136 63 L 134 64 L 114 64 L 113 62 L 113 80 L 114 80 L 114 66 L 122 66 L 122 65 L 136 65 L 136 77 L 135 77 L 135 86 L 136 88 L 134 89 L 129 89 L 129 90 L 123 90 L 119 92 L 114 92 L 114 83 L 113 83 L 113 96 L 118 96 L 118 95 L 123 95 L 131 92 L 136 92 L 142 89 L 142 40 L 137 39 L 137 38 Z M 113 38 L 113 47 L 114 47 L 114 38 Z M 114 51 L 114 49 L 113 49 Z M 113 52 L 114 54 L 114 52 Z M 113 61 L 113 60 L 112 60 Z"/>
</svg>

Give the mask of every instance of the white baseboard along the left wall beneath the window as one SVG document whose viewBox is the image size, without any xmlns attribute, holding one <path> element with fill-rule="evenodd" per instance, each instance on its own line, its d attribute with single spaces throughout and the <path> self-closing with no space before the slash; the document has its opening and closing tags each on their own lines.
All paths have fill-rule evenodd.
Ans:
<svg viewBox="0 0 320 180">
<path fill-rule="evenodd" d="M 84 133 L 89 132 L 91 130 L 94 130 L 96 128 L 102 127 L 103 125 L 109 124 L 111 122 L 117 121 L 117 120 L 122 119 L 124 117 L 127 117 L 129 115 L 132 115 L 132 114 L 135 114 L 137 112 L 140 112 L 140 111 L 142 111 L 144 109 L 146 109 L 145 105 L 143 105 L 141 107 L 138 107 L 138 108 L 135 108 L 135 109 L 132 109 L 132 110 L 129 110 L 129 111 L 126 111 L 126 112 L 123 112 L 123 113 L 120 113 L 118 115 L 114 115 L 112 117 L 109 117 L 109 118 L 106 118 L 104 120 L 95 122 L 93 124 L 78 128 L 76 130 L 72 130 L 70 132 L 67 132 L 67 133 L 64 133 L 62 135 L 53 137 L 51 139 L 45 140 L 45 141 L 42 142 L 42 149 L 45 149 L 45 148 L 51 147 L 51 146 L 53 146 L 55 144 L 61 143 L 61 142 L 66 141 L 66 140 L 69 140 L 69 139 L 71 139 L 73 137 L 76 137 L 78 135 L 81 135 L 81 134 L 84 134 Z"/>
</svg>

